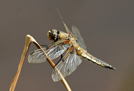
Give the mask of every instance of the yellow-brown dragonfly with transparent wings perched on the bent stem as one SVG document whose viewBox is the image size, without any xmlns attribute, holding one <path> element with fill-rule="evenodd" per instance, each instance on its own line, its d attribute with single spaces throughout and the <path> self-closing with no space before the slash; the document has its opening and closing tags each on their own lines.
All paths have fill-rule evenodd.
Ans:
<svg viewBox="0 0 134 91">
<path fill-rule="evenodd" d="M 53 43 L 47 47 L 44 47 L 43 49 L 51 60 L 65 53 L 64 56 L 62 56 L 61 59 L 56 63 L 56 67 L 64 77 L 74 72 L 81 64 L 82 61 L 80 57 L 102 67 L 115 70 L 115 68 L 111 65 L 87 52 L 83 38 L 75 26 L 72 26 L 72 31 L 70 31 L 63 20 L 62 22 L 67 33 L 58 31 L 56 29 L 49 30 L 47 36 L 51 41 L 53 41 Z M 47 57 L 44 55 L 41 49 L 34 50 L 28 56 L 29 63 L 42 63 L 46 60 Z M 52 72 L 52 79 L 55 82 L 61 80 L 55 69 Z"/>
</svg>

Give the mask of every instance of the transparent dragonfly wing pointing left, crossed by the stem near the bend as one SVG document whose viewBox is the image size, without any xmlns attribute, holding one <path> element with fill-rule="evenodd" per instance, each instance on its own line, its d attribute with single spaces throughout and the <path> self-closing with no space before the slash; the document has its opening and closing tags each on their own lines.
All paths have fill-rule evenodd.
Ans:
<svg viewBox="0 0 134 91">
<path fill-rule="evenodd" d="M 50 57 L 50 59 L 53 60 L 59 57 L 62 53 L 64 53 L 68 47 L 69 47 L 68 45 L 56 45 L 53 47 L 49 47 L 48 49 L 46 48 L 43 48 L 43 49 L 47 53 L 47 55 Z M 47 58 L 41 49 L 37 49 L 33 51 L 28 56 L 29 63 L 42 63 L 42 62 L 45 62 L 46 59 Z"/>
</svg>

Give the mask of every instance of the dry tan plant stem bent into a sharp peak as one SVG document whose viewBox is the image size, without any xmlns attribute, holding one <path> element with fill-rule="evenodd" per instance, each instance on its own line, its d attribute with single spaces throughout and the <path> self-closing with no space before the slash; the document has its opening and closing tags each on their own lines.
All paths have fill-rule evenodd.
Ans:
<svg viewBox="0 0 134 91">
<path fill-rule="evenodd" d="M 16 84 L 17 84 L 17 81 L 18 81 L 18 78 L 19 78 L 19 75 L 20 75 L 20 72 L 21 72 L 21 69 L 22 69 L 22 66 L 23 66 L 23 63 L 24 63 L 24 60 L 25 60 L 27 51 L 28 51 L 28 48 L 29 48 L 31 42 L 33 42 L 38 48 L 40 48 L 44 52 L 44 54 L 47 56 L 46 52 L 36 42 L 36 40 L 32 36 L 27 35 L 26 36 L 26 40 L 25 40 L 24 50 L 23 50 L 23 53 L 22 53 L 22 56 L 21 56 L 21 59 L 20 59 L 19 66 L 18 66 L 18 70 L 17 70 L 17 73 L 16 73 L 16 75 L 15 75 L 12 83 L 11 83 L 11 86 L 10 86 L 9 91 L 14 91 L 15 90 L 15 87 L 16 87 Z M 49 56 L 47 56 L 47 60 L 50 63 L 50 65 L 52 66 L 52 68 L 55 67 L 55 69 L 58 72 L 59 76 L 61 77 L 61 80 L 62 80 L 63 84 L 65 85 L 66 89 L 68 91 L 72 91 L 71 88 L 69 87 L 67 81 L 65 80 L 65 78 L 63 77 L 63 75 L 61 74 L 61 72 L 58 70 L 58 68 L 55 66 L 54 62 L 49 58 Z"/>
</svg>

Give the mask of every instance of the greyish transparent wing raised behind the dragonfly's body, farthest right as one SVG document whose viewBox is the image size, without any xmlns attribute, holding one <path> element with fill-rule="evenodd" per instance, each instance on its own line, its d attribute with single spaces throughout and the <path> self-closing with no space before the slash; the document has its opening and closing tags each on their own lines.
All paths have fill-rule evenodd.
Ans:
<svg viewBox="0 0 134 91">
<path fill-rule="evenodd" d="M 80 45 L 80 47 L 82 47 L 83 49 L 86 50 L 85 42 L 84 42 L 78 28 L 76 28 L 75 26 L 72 26 L 72 32 L 73 32 L 75 38 L 77 39 L 77 42 Z"/>
</svg>

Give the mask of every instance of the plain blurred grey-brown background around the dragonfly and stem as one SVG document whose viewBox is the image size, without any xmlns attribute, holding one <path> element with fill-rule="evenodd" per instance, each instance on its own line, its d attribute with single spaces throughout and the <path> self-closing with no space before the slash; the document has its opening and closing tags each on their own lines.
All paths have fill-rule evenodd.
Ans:
<svg viewBox="0 0 134 91">
<path fill-rule="evenodd" d="M 0 0 L 0 91 L 8 91 L 16 74 L 26 34 L 50 44 L 48 30 L 65 31 L 56 9 L 70 29 L 78 27 L 89 53 L 117 68 L 83 59 L 66 77 L 72 90 L 134 91 L 133 0 Z M 28 54 L 35 49 L 32 44 Z M 66 91 L 51 73 L 48 62 L 29 64 L 26 57 L 15 91 Z"/>
</svg>

